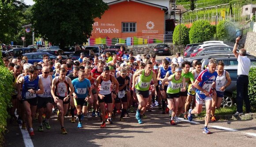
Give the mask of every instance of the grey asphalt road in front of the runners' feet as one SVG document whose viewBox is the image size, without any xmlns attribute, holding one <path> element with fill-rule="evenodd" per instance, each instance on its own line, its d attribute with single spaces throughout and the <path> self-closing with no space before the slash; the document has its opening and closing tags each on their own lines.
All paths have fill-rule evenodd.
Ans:
<svg viewBox="0 0 256 147">
<path fill-rule="evenodd" d="M 204 120 L 188 122 L 181 120 L 177 125 L 169 124 L 169 115 L 162 115 L 161 110 L 153 108 L 146 112 L 144 124 L 138 124 L 135 113 L 119 122 L 113 118 L 113 124 L 106 123 L 105 129 L 100 129 L 99 118 L 86 118 L 83 128 L 77 128 L 77 122 L 71 123 L 70 117 L 65 118 L 64 125 L 67 135 L 60 133 L 60 124 L 56 114 L 50 120 L 51 129 L 44 127 L 44 132 L 38 132 L 38 123 L 34 122 L 35 136 L 31 138 L 30 147 L 255 147 L 256 119 L 240 121 L 217 121 L 208 125 L 212 134 L 202 133 Z M 119 114 L 120 116 L 120 114 Z M 28 147 L 30 137 L 25 137 L 26 130 L 20 130 L 17 123 L 8 124 L 5 134 L 5 146 Z"/>
</svg>

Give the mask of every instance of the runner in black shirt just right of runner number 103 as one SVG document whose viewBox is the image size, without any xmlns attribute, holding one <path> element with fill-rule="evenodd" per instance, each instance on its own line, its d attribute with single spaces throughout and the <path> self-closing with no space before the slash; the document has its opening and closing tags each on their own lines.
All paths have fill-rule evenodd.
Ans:
<svg viewBox="0 0 256 147">
<path fill-rule="evenodd" d="M 130 90 L 130 78 L 127 76 L 127 68 L 121 67 L 120 76 L 117 77 L 117 81 L 119 82 L 119 91 L 117 94 L 116 100 L 116 108 L 120 110 L 120 102 L 122 101 L 122 113 L 120 116 L 120 122 L 124 122 L 124 115 L 127 112 L 127 93 Z"/>
</svg>

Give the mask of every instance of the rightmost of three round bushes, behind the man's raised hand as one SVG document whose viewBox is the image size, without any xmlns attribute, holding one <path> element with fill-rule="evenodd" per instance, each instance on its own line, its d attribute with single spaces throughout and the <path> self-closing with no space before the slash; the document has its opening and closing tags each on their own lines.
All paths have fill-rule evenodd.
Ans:
<svg viewBox="0 0 256 147">
<path fill-rule="evenodd" d="M 221 21 L 216 27 L 217 38 L 222 41 L 231 42 L 236 38 L 236 29 L 232 22 Z"/>
</svg>

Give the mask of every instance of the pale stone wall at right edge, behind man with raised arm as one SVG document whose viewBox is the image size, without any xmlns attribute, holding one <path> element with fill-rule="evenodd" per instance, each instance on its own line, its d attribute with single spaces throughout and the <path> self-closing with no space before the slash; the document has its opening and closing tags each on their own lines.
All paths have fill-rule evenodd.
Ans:
<svg viewBox="0 0 256 147">
<path fill-rule="evenodd" d="M 245 50 L 256 56 L 256 32 L 248 32 L 245 40 Z"/>
</svg>

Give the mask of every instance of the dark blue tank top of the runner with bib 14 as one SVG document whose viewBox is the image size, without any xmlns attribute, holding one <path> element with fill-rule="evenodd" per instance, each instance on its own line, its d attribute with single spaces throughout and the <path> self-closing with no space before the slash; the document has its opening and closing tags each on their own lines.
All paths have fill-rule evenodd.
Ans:
<svg viewBox="0 0 256 147">
<path fill-rule="evenodd" d="M 34 81 L 29 80 L 29 75 L 24 76 L 24 83 L 22 86 L 22 98 L 31 99 L 37 97 L 36 94 L 28 92 L 28 90 L 38 90 L 39 76 Z"/>
</svg>

